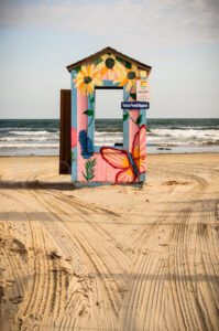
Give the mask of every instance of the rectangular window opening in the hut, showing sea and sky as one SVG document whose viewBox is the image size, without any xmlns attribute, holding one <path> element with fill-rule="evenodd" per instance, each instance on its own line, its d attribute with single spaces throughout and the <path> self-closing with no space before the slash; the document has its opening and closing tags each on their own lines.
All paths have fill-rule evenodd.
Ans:
<svg viewBox="0 0 219 331">
<path fill-rule="evenodd" d="M 122 102 L 122 87 L 95 88 L 95 146 L 123 145 Z"/>
</svg>

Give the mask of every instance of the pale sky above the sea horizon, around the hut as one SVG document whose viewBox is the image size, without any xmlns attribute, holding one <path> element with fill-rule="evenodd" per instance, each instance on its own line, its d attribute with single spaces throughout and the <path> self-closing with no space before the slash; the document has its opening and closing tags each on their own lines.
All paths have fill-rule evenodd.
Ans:
<svg viewBox="0 0 219 331">
<path fill-rule="evenodd" d="M 219 117 L 218 13 L 218 0 L 0 0 L 0 118 L 58 118 L 66 66 L 107 46 L 152 66 L 149 117 Z"/>
</svg>

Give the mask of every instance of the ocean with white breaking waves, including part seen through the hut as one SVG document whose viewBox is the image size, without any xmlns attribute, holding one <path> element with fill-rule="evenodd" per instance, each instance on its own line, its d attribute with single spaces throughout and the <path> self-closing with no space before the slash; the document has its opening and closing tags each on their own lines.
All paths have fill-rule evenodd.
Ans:
<svg viewBox="0 0 219 331">
<path fill-rule="evenodd" d="M 147 119 L 147 153 L 219 152 L 219 118 Z M 97 119 L 95 143 L 122 143 L 122 120 Z M 0 156 L 58 156 L 58 119 L 0 119 Z"/>
</svg>

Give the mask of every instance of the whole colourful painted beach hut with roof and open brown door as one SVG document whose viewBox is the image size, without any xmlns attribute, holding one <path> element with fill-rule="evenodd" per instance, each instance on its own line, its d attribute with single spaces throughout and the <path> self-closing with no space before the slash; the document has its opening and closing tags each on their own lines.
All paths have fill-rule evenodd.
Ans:
<svg viewBox="0 0 219 331">
<path fill-rule="evenodd" d="M 61 173 L 76 186 L 145 181 L 146 109 L 151 66 L 106 47 L 67 66 L 72 89 L 61 90 Z M 96 146 L 98 90 L 122 89 L 122 142 Z M 105 106 L 102 106 L 102 111 Z"/>
</svg>

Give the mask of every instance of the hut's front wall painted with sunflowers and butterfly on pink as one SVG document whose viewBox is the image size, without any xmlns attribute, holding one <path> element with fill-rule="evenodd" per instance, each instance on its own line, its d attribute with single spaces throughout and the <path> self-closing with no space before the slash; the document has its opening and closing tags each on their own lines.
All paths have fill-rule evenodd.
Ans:
<svg viewBox="0 0 219 331">
<path fill-rule="evenodd" d="M 146 72 L 111 53 L 72 71 L 74 182 L 133 184 L 145 180 L 145 110 L 123 109 L 122 147 L 94 146 L 95 87 L 122 86 L 123 102 L 134 102 L 138 79 L 146 84 Z"/>
</svg>

